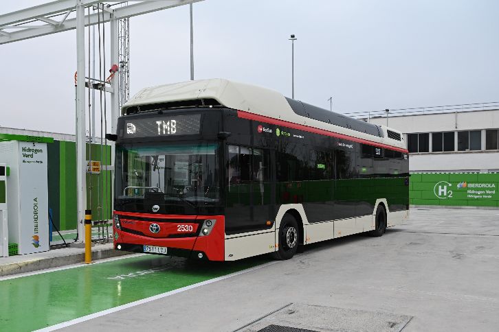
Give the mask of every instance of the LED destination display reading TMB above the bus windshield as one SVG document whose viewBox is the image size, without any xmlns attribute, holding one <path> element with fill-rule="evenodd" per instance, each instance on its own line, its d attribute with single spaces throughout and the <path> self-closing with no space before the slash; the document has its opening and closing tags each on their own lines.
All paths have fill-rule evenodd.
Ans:
<svg viewBox="0 0 499 332">
<path fill-rule="evenodd" d="M 145 119 L 124 119 L 120 136 L 165 137 L 199 134 L 201 114 L 162 115 Z"/>
</svg>

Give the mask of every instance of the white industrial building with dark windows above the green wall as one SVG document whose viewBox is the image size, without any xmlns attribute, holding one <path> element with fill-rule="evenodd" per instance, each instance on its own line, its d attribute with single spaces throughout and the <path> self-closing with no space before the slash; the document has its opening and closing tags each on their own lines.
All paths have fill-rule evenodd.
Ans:
<svg viewBox="0 0 499 332">
<path fill-rule="evenodd" d="M 498 106 L 439 106 L 364 119 L 403 132 L 411 172 L 493 173 L 499 171 Z"/>
</svg>

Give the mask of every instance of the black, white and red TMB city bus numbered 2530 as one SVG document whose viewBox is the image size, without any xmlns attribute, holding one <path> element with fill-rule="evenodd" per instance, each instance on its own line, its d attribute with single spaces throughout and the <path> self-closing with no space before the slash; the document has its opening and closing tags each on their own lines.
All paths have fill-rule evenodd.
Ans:
<svg viewBox="0 0 499 332">
<path fill-rule="evenodd" d="M 230 80 L 144 88 L 115 139 L 115 250 L 290 259 L 409 209 L 401 132 Z"/>
</svg>

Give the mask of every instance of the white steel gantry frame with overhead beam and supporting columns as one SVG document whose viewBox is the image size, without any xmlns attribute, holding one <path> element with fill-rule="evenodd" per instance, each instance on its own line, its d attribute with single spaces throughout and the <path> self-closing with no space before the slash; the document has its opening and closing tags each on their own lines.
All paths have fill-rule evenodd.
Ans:
<svg viewBox="0 0 499 332">
<path fill-rule="evenodd" d="M 78 72 L 76 82 L 76 167 L 77 167 L 77 202 L 78 202 L 78 233 L 83 241 L 85 209 L 87 207 L 86 192 L 86 121 L 85 121 L 85 26 L 99 23 L 97 13 L 85 15 L 85 8 L 99 5 L 102 10 L 100 23 L 111 22 L 111 64 L 118 64 L 118 20 L 132 16 L 157 12 L 179 5 L 203 0 L 142 0 L 129 1 L 120 8 L 112 5 L 102 5 L 100 0 L 58 0 L 32 8 L 26 8 L 0 15 L 0 45 L 14 43 L 20 40 L 36 38 L 48 34 L 56 34 L 76 29 L 76 67 Z M 106 3 L 122 3 L 120 0 L 107 0 Z M 103 17 L 102 17 L 103 16 Z M 9 30 L 9 31 L 7 31 Z M 13 30 L 13 31 L 11 31 Z M 89 46 L 90 47 L 90 46 Z M 95 78 L 93 78 L 95 79 Z M 111 128 L 116 132 L 116 122 L 119 116 L 118 78 L 111 81 Z"/>
</svg>

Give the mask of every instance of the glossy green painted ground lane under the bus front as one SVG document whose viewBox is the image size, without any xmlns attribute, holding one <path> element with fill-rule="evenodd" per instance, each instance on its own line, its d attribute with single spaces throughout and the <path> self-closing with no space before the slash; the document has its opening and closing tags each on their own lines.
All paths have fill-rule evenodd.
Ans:
<svg viewBox="0 0 499 332">
<path fill-rule="evenodd" d="M 0 281 L 0 330 L 49 327 L 267 261 L 199 262 L 147 255 Z"/>
</svg>

